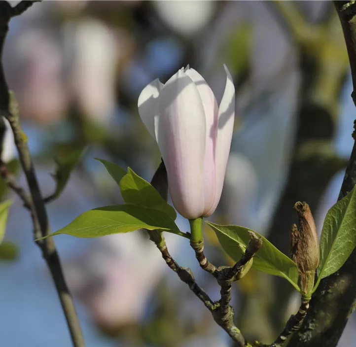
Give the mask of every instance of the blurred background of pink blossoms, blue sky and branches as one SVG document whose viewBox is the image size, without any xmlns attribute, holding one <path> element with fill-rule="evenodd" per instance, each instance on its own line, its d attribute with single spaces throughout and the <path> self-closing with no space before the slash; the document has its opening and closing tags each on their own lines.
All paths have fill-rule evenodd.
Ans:
<svg viewBox="0 0 356 347">
<path fill-rule="evenodd" d="M 146 84 L 157 77 L 164 83 L 190 64 L 219 103 L 224 63 L 235 82 L 236 127 L 211 219 L 254 229 L 288 254 L 293 205 L 302 200 L 320 231 L 337 200 L 355 118 L 330 0 L 44 0 L 12 19 L 4 69 L 44 195 L 55 185 L 53 158 L 88 147 L 48 206 L 52 230 L 87 209 L 121 202 L 93 158 L 130 166 L 147 180 L 154 174 L 160 154 L 137 110 Z M 3 155 L 16 160 L 10 134 Z M 25 184 L 21 170 L 17 176 Z M 7 195 L 14 203 L 0 247 L 0 345 L 71 346 L 30 216 Z M 188 230 L 181 217 L 178 225 Z M 208 228 L 205 238 L 211 260 L 229 263 Z M 217 299 L 214 279 L 199 269 L 186 240 L 167 240 Z M 233 347 L 144 233 L 62 235 L 55 242 L 88 347 Z M 233 304 L 245 337 L 269 343 L 297 309 L 298 295 L 285 280 L 250 271 L 234 285 Z M 354 346 L 355 328 L 351 317 L 339 346 Z"/>
</svg>

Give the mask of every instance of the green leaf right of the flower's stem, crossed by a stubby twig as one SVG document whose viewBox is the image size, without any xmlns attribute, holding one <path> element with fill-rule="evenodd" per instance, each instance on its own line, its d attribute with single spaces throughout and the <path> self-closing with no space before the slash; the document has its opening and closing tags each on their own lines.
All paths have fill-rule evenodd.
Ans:
<svg viewBox="0 0 356 347">
<path fill-rule="evenodd" d="M 249 243 L 250 229 L 237 225 L 218 225 L 211 222 L 206 223 L 214 230 L 224 251 L 234 261 L 239 261 Z M 254 255 L 251 269 L 283 277 L 287 279 L 294 288 L 300 291 L 298 287 L 299 273 L 297 265 L 267 239 L 261 235 L 259 236 L 263 240 L 262 247 Z"/>
</svg>

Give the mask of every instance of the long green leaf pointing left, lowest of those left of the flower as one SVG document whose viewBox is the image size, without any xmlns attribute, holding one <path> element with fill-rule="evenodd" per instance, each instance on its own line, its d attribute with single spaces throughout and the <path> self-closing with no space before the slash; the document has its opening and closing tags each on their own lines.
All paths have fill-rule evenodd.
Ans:
<svg viewBox="0 0 356 347">
<path fill-rule="evenodd" d="M 182 234 L 174 220 L 161 211 L 135 205 L 114 205 L 86 211 L 49 236 L 68 234 L 78 238 L 96 238 L 142 228 Z"/>
</svg>

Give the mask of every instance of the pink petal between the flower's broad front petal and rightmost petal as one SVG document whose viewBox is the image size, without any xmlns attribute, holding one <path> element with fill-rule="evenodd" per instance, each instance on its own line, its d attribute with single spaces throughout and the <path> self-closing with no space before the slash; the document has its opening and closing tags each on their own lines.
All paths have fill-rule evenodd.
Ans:
<svg viewBox="0 0 356 347">
<path fill-rule="evenodd" d="M 194 69 L 186 68 L 185 73 L 192 79 L 198 89 L 200 98 L 204 106 L 206 120 L 206 140 L 204 157 L 204 214 L 208 213 L 213 206 L 215 199 L 215 163 L 214 150 L 216 139 L 216 126 L 218 107 L 213 91 L 205 79 Z M 203 214 L 203 215 L 204 215 Z"/>
</svg>

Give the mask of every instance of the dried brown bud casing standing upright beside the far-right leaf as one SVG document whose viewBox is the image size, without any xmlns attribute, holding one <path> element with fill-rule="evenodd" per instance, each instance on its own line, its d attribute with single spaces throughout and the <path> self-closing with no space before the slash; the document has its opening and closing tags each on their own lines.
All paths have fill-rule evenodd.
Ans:
<svg viewBox="0 0 356 347">
<path fill-rule="evenodd" d="M 319 239 L 315 221 L 307 203 L 294 205 L 299 219 L 299 229 L 295 224 L 291 230 L 291 258 L 297 264 L 301 275 L 301 286 L 309 292 L 314 285 L 314 275 L 320 260 Z"/>
</svg>

